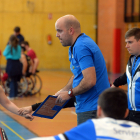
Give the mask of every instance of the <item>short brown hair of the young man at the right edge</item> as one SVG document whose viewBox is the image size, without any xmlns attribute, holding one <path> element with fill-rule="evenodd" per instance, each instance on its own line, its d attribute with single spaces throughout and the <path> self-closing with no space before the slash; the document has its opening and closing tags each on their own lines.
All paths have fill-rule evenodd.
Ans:
<svg viewBox="0 0 140 140">
<path fill-rule="evenodd" d="M 138 41 L 140 39 L 140 28 L 134 27 L 129 29 L 125 33 L 125 39 L 134 36 L 134 38 Z"/>
</svg>

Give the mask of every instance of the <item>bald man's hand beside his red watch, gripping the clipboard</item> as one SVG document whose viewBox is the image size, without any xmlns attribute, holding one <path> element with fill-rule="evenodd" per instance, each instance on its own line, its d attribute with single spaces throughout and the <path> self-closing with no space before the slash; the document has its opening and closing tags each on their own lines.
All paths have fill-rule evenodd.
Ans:
<svg viewBox="0 0 140 140">
<path fill-rule="evenodd" d="M 62 103 L 69 100 L 71 97 L 68 95 L 68 91 L 59 91 L 55 94 L 57 96 L 56 103 Z"/>
</svg>

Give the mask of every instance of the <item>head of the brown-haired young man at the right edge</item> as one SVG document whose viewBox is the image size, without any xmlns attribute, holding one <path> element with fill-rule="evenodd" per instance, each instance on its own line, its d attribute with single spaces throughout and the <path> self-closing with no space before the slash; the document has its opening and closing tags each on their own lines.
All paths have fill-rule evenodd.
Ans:
<svg viewBox="0 0 140 140">
<path fill-rule="evenodd" d="M 125 34 L 125 42 L 131 55 L 140 55 L 140 28 L 129 29 Z"/>
</svg>

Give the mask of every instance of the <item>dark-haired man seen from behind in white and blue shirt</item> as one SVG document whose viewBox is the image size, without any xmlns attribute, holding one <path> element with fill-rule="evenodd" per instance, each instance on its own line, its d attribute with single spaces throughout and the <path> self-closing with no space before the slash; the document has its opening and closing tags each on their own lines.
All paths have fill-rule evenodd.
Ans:
<svg viewBox="0 0 140 140">
<path fill-rule="evenodd" d="M 57 136 L 30 140 L 140 140 L 139 125 L 123 120 L 127 115 L 125 92 L 109 88 L 99 96 L 98 119 L 90 119 Z"/>
</svg>

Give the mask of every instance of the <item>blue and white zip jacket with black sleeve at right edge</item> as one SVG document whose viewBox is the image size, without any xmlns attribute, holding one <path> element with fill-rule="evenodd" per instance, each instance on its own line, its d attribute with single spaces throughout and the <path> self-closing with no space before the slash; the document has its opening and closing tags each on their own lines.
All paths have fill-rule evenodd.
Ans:
<svg viewBox="0 0 140 140">
<path fill-rule="evenodd" d="M 117 78 L 113 84 L 116 87 L 128 84 L 128 109 L 140 111 L 140 56 L 130 56 L 126 73 Z"/>
</svg>

